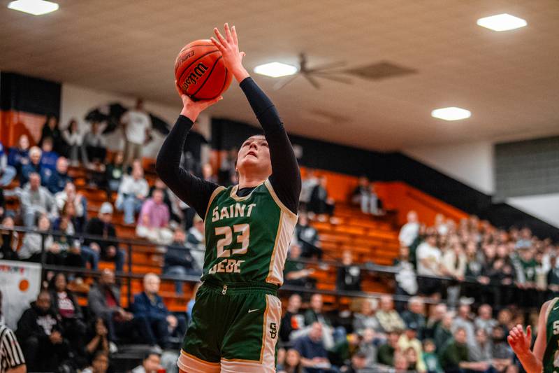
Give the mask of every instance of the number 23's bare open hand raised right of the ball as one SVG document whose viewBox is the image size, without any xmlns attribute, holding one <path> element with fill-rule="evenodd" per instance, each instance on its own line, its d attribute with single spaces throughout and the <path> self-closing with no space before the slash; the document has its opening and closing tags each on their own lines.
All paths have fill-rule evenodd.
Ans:
<svg viewBox="0 0 559 373">
<path fill-rule="evenodd" d="M 217 27 L 214 28 L 215 38 L 211 38 L 215 47 L 222 52 L 223 62 L 228 70 L 233 73 L 235 79 L 240 83 L 242 80 L 249 76 L 249 73 L 242 66 L 242 57 L 245 57 L 245 52 L 239 51 L 239 40 L 237 37 L 237 29 L 235 26 L 229 28 L 228 24 L 224 24 L 223 36 Z"/>
</svg>

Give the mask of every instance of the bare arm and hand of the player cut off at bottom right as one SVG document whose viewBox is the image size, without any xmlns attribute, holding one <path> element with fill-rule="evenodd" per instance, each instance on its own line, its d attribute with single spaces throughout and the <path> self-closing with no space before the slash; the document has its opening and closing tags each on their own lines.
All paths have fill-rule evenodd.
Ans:
<svg viewBox="0 0 559 373">
<path fill-rule="evenodd" d="M 537 321 L 538 334 L 533 351 L 530 351 L 530 344 L 532 342 L 532 328 L 530 325 L 526 328 L 526 333 L 524 333 L 522 325 L 516 325 L 511 329 L 509 337 L 507 337 L 512 350 L 518 356 L 518 360 L 520 360 L 527 373 L 541 373 L 543 370 L 542 359 L 544 358 L 547 339 L 546 315 L 548 314 L 547 310 L 551 302 L 545 302 L 539 311 Z"/>
</svg>

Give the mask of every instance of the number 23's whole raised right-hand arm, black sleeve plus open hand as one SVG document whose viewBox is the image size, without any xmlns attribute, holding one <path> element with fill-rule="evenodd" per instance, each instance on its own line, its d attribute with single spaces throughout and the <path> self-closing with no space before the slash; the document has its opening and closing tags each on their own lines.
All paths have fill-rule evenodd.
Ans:
<svg viewBox="0 0 559 373">
<path fill-rule="evenodd" d="M 245 52 L 239 52 L 237 31 L 233 26 L 229 29 L 225 24 L 225 36 L 214 29 L 215 38 L 212 43 L 222 52 L 224 63 L 231 69 L 233 76 L 240 83 L 242 92 L 245 93 L 252 110 L 256 114 L 268 146 L 270 147 L 270 160 L 272 162 L 272 176 L 270 183 L 282 203 L 293 213 L 297 213 L 299 195 L 301 191 L 301 176 L 293 147 L 287 137 L 281 118 L 266 94 L 250 78 L 249 73 L 242 66 L 242 57 Z"/>
</svg>

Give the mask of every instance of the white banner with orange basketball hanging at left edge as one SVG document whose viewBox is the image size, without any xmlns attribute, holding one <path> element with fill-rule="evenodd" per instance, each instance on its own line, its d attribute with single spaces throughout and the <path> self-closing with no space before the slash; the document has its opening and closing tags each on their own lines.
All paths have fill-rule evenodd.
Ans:
<svg viewBox="0 0 559 373">
<path fill-rule="evenodd" d="M 0 260 L 0 290 L 2 316 L 6 325 L 15 330 L 23 311 L 37 299 L 41 290 L 41 265 Z"/>
</svg>

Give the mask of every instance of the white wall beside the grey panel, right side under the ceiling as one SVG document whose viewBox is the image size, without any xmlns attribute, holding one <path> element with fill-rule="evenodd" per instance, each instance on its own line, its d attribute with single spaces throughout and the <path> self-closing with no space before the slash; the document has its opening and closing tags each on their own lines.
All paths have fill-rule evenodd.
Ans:
<svg viewBox="0 0 559 373">
<path fill-rule="evenodd" d="M 493 195 L 495 167 L 493 142 L 478 141 L 445 146 L 424 146 L 402 153 L 470 187 Z M 508 198 L 507 204 L 559 227 L 559 194 Z"/>
</svg>

